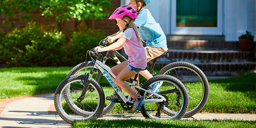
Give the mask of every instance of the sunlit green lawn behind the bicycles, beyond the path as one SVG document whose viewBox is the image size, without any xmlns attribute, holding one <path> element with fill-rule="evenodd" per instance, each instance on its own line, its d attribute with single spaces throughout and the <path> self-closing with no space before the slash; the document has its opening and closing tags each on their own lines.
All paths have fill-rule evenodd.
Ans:
<svg viewBox="0 0 256 128">
<path fill-rule="evenodd" d="M 0 68 L 0 100 L 17 96 L 54 93 L 73 67 Z M 100 81 L 103 85 L 104 79 Z M 107 82 L 104 90 L 111 88 Z M 209 80 L 210 94 L 201 112 L 256 113 L 256 73 L 228 79 Z M 108 89 L 113 93 L 113 90 Z M 112 113 L 130 113 L 119 104 Z"/>
</svg>

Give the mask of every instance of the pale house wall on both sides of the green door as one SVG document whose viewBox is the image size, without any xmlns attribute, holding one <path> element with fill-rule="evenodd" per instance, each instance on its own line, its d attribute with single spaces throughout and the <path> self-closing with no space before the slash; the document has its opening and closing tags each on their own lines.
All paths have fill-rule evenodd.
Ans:
<svg viewBox="0 0 256 128">
<path fill-rule="evenodd" d="M 128 4 L 129 0 L 121 0 Z M 146 6 L 166 35 L 171 33 L 171 0 L 151 0 Z M 245 31 L 256 36 L 256 0 L 223 0 L 223 35 L 225 41 L 238 41 Z M 256 38 L 254 38 L 256 41 Z"/>
</svg>

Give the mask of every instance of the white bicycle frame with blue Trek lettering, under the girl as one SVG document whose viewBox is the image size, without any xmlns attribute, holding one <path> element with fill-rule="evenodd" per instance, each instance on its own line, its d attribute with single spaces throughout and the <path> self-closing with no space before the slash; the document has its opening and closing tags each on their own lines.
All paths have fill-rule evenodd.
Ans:
<svg viewBox="0 0 256 128">
<path fill-rule="evenodd" d="M 111 86 L 114 88 L 114 90 L 118 93 L 118 95 L 122 99 L 122 102 L 124 102 L 125 104 L 127 104 L 128 102 L 132 103 L 131 102 L 131 96 L 129 95 L 128 98 L 126 99 L 124 94 L 121 92 L 121 90 L 119 90 L 119 88 L 113 82 L 113 79 L 115 79 L 116 76 L 107 67 L 105 67 L 105 64 L 103 64 L 100 60 L 97 59 L 95 64 L 94 64 L 93 70 L 95 70 L 95 71 L 96 70 L 100 70 L 100 72 L 103 74 L 103 76 L 108 80 L 108 82 L 111 84 Z M 91 72 L 89 74 L 89 78 L 88 79 L 92 78 L 93 73 L 94 72 Z M 137 86 L 136 85 L 136 81 L 133 81 L 132 83 L 129 83 L 129 82 L 127 82 L 127 83 L 131 86 L 132 89 L 134 89 L 134 87 L 136 87 L 136 88 L 138 88 L 140 90 L 144 90 L 145 92 L 148 92 L 148 93 L 154 94 L 155 96 L 160 97 L 160 99 L 145 99 L 145 100 L 142 101 L 142 104 L 154 103 L 154 102 L 163 102 L 163 101 L 166 100 L 163 96 L 161 96 L 161 95 L 159 95 L 157 93 L 154 93 L 154 92 L 152 92 L 150 90 L 145 90 L 142 87 Z"/>
</svg>

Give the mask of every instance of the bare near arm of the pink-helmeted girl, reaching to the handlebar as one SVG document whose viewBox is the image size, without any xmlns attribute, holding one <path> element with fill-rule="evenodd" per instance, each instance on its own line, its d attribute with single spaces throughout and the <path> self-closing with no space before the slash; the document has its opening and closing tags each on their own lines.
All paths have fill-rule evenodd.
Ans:
<svg viewBox="0 0 256 128">
<path fill-rule="evenodd" d="M 113 44 L 111 44 L 110 46 L 103 47 L 103 48 L 101 48 L 101 47 L 96 47 L 94 50 L 95 50 L 96 52 L 97 52 L 97 49 L 100 49 L 101 52 L 111 51 L 111 50 L 119 50 L 119 49 L 122 49 L 122 47 L 123 47 L 122 44 L 124 44 L 125 41 L 127 41 L 127 39 L 121 37 L 121 38 L 119 38 L 119 39 L 116 41 L 116 43 L 113 43 Z"/>
</svg>

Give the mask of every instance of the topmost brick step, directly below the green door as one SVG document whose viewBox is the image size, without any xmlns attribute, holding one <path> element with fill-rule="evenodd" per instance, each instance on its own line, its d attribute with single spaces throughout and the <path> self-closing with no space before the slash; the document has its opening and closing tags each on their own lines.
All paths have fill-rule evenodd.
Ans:
<svg viewBox="0 0 256 128">
<path fill-rule="evenodd" d="M 167 41 L 169 49 L 192 49 L 192 50 L 239 50 L 236 41 L 211 41 L 211 40 L 183 40 Z"/>
</svg>

